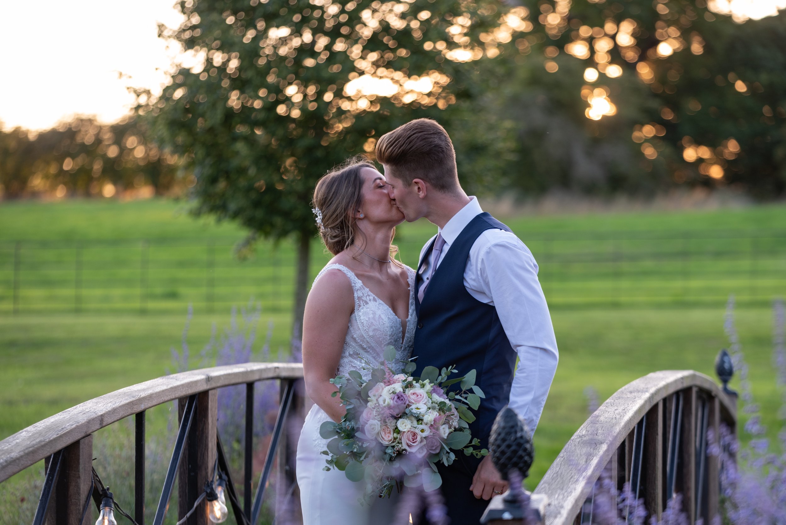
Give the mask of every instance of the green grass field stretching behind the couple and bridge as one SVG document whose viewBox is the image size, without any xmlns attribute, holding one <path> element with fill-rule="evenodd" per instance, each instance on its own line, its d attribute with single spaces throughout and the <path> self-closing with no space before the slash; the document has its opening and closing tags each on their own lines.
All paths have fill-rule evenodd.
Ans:
<svg viewBox="0 0 786 525">
<path fill-rule="evenodd" d="M 769 235 L 786 225 L 786 206 L 518 217 L 507 222 L 527 242 L 540 263 L 541 279 L 551 305 L 560 347 L 560 366 L 535 435 L 536 462 L 527 483 L 529 486 L 537 483 L 564 442 L 586 419 L 586 387 L 596 388 L 603 401 L 630 380 L 654 370 L 696 369 L 712 375 L 714 357 L 727 344 L 723 334 L 723 314 L 729 292 L 740 297 L 736 321 L 751 366 L 754 393 L 762 405 L 764 421 L 769 424 L 769 435 L 773 438 L 777 435 L 780 394 L 771 364 L 773 326 L 767 305 L 773 297 L 786 295 L 783 280 L 786 274 L 783 271 L 786 267 L 786 256 L 783 255 L 786 242 L 774 234 L 761 237 L 769 240 L 759 241 L 760 256 L 754 259 L 758 266 L 753 270 L 751 259 L 740 258 L 739 255 L 751 246 L 751 235 L 756 236 L 760 232 L 769 232 Z M 195 220 L 185 213 L 184 204 L 166 200 L 4 203 L 0 204 L 0 225 L 3 226 L 0 228 L 0 243 L 6 248 L 9 245 L 13 247 L 16 240 L 34 240 L 42 244 L 50 240 L 80 241 L 87 244 L 98 240 L 135 242 L 141 239 L 148 239 L 151 245 L 156 240 L 177 239 L 184 244 L 190 241 L 204 247 L 207 238 L 233 242 L 243 235 L 241 229 L 231 224 L 216 225 L 207 220 Z M 398 240 L 406 262 L 411 263 L 417 258 L 413 247 L 428 238 L 432 230 L 432 226 L 423 222 L 402 225 Z M 663 244 L 664 239 L 669 243 L 680 239 L 680 242 L 691 245 L 691 233 L 709 239 L 699 243 L 699 248 L 689 250 L 696 259 L 688 262 L 671 256 L 658 259 L 658 253 L 669 251 L 668 244 Z M 617 261 L 617 266 L 611 269 L 603 266 L 608 266 L 609 262 L 599 266 L 592 257 L 608 250 L 608 244 L 597 248 L 600 242 L 597 238 L 604 236 L 616 239 L 636 237 L 630 240 L 636 246 L 631 244 L 627 251 L 648 254 L 648 257 Z M 565 239 L 573 239 L 571 243 L 575 243 L 577 237 L 578 240 L 584 239 L 581 250 L 575 248 L 576 244 L 560 248 L 560 242 L 567 243 Z M 685 241 L 686 238 L 689 240 Z M 226 244 L 226 251 L 220 257 L 227 266 L 227 273 L 237 273 L 240 277 L 236 278 L 240 282 L 227 287 L 220 300 L 216 292 L 213 312 L 208 311 L 210 304 L 205 300 L 204 288 L 197 288 L 198 291 L 189 295 L 188 286 L 174 283 L 170 285 L 174 293 L 165 301 L 162 299 L 156 303 L 149 299 L 147 314 L 138 311 L 138 289 L 134 290 L 134 300 L 127 301 L 130 306 L 125 310 L 120 307 L 114 311 L 101 308 L 100 295 L 90 299 L 94 303 L 86 299 L 87 295 L 83 296 L 83 313 L 74 313 L 70 307 L 47 310 L 41 307 L 47 303 L 44 294 L 38 299 L 28 296 L 28 303 L 21 302 L 20 312 L 12 314 L 8 303 L 9 259 L 7 256 L 0 259 L 6 265 L 0 265 L 6 271 L 6 274 L 0 275 L 3 283 L 0 286 L 5 287 L 0 288 L 5 294 L 0 301 L 6 301 L 0 302 L 0 358 L 3 363 L 0 367 L 0 439 L 86 399 L 163 375 L 167 368 L 172 368 L 170 349 L 180 345 L 189 303 L 194 306 L 188 337 L 193 353 L 200 351 L 208 342 L 214 324 L 219 332 L 228 324 L 230 305 L 244 306 L 252 296 L 263 301 L 260 332 L 264 332 L 268 321 L 272 321 L 274 338 L 271 346 L 274 351 L 278 347 L 285 348 L 290 322 L 288 301 L 270 307 L 265 303 L 266 296 L 255 288 L 263 286 L 261 281 L 269 279 L 270 273 L 258 271 L 257 281 L 243 282 L 244 274 L 232 265 L 240 267 L 248 263 L 233 261 L 231 242 Z M 733 246 L 735 243 L 738 244 L 736 248 Z M 722 248 L 733 257 L 724 258 Z M 572 268 L 570 272 L 549 269 L 549 261 L 553 266 L 560 264 L 560 250 L 563 255 L 571 257 L 584 253 L 589 262 L 585 260 L 583 266 Z M 315 271 L 324 259 L 316 244 L 314 251 Z M 186 254 L 184 260 L 189 259 L 187 251 L 183 253 Z M 263 244 L 257 258 L 265 259 L 271 253 L 281 260 L 280 269 L 284 269 L 287 261 L 291 260 L 288 258 L 291 258 L 292 251 L 287 244 L 278 248 Z M 676 253 L 682 255 L 683 252 Z M 700 253 L 704 255 L 699 257 Z M 96 257 L 98 255 L 101 254 Z M 119 251 L 105 253 L 104 256 L 107 260 L 101 262 L 103 266 L 111 267 L 123 260 Z M 219 255 L 216 257 L 218 259 Z M 682 261 L 682 266 L 678 266 L 675 260 Z M 54 262 L 57 263 L 57 259 Z M 563 261 L 561 264 L 569 266 L 578 262 Z M 101 265 L 97 264 L 96 268 Z M 173 266 L 172 272 L 177 273 L 178 266 Z M 259 266 L 263 267 L 263 263 L 260 262 Z M 685 273 L 674 274 L 675 269 Z M 623 277 L 619 277 L 620 270 Z M 624 272 L 628 272 L 628 277 Z M 686 274 L 689 279 L 680 281 L 685 279 Z M 285 274 L 274 274 L 277 281 L 281 281 L 276 283 L 280 287 L 276 293 L 286 295 L 290 282 L 281 275 Z M 646 275 L 657 278 L 647 280 Z M 124 277 L 118 274 L 108 278 Z M 138 281 L 138 276 L 134 278 Z M 163 280 L 168 278 L 171 275 L 162 277 Z M 204 279 L 203 272 L 200 280 Z M 42 279 L 40 288 L 46 288 L 47 282 L 57 287 L 58 281 L 53 278 L 52 281 Z M 219 277 L 216 277 L 216 282 L 220 282 Z M 608 288 L 612 285 L 617 287 L 613 290 L 616 295 L 609 295 Z M 670 288 L 664 293 L 663 287 Z M 669 294 L 673 295 L 674 290 L 685 287 L 688 292 L 694 288 L 706 290 L 700 294 L 696 292 L 696 296 L 700 297 L 697 301 L 682 303 L 673 298 L 664 299 L 671 297 Z M 68 290 L 73 294 L 72 287 Z M 593 299 L 602 294 L 609 296 L 604 300 Z M 73 295 L 70 298 L 73 299 Z M 125 299 L 121 299 L 116 304 L 124 304 Z M 115 299 L 109 297 L 108 300 Z M 259 350 L 262 340 L 260 334 L 255 350 Z M 0 492 L 3 490 L 0 485 Z"/>
</svg>

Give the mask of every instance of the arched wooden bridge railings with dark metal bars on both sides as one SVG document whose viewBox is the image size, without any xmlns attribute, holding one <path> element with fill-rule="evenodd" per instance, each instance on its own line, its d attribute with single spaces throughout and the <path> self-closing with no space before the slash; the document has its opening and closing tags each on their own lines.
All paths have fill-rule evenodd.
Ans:
<svg viewBox="0 0 786 525">
<path fill-rule="evenodd" d="M 0 442 L 0 483 L 44 460 L 46 478 L 37 511 L 31 516 L 32 523 L 93 523 L 90 500 L 98 508 L 106 494 L 105 487 L 93 475 L 92 434 L 134 416 L 134 511 L 131 514 L 136 523 L 144 525 L 145 411 L 177 400 L 180 424 L 153 525 L 163 523 L 175 478 L 178 478 L 178 519 L 196 507 L 198 512 L 193 512 L 184 523 L 210 523 L 208 505 L 196 504 L 205 480 L 214 479 L 216 472 L 226 479 L 226 499 L 237 523 L 255 525 L 259 523 L 263 494 L 288 410 L 290 406 L 296 409 L 302 406 L 295 393 L 296 380 L 302 377 L 303 366 L 299 364 L 247 363 L 176 373 L 102 395 Z M 258 489 L 251 497 L 254 388 L 261 380 L 281 382 L 281 405 Z M 247 497 L 242 498 L 241 505 L 229 475 L 216 420 L 218 389 L 243 384 L 246 385 L 243 494 Z M 629 483 L 630 491 L 644 499 L 650 516 L 660 518 L 670 499 L 681 494 L 682 509 L 689 523 L 700 518 L 710 523 L 719 512 L 721 487 L 718 457 L 707 450 L 707 429 L 713 428 L 717 436 L 721 424 L 736 431 L 736 397 L 703 374 L 690 370 L 661 371 L 627 384 L 578 429 L 534 490 L 533 500 L 545 503 L 539 519 L 549 525 L 593 523 L 596 482 L 606 472 L 618 490 Z M 490 505 L 505 504 L 499 496 Z M 522 523 L 510 513 L 505 517 L 508 523 Z"/>
</svg>

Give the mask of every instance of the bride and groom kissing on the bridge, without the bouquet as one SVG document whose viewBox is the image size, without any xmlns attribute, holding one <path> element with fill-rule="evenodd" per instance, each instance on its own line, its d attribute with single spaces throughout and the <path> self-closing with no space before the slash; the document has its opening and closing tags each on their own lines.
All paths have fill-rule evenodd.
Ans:
<svg viewBox="0 0 786 525">
<path fill-rule="evenodd" d="M 346 413 L 330 382 L 336 375 L 369 370 L 390 346 L 392 373 L 415 357 L 413 376 L 426 366 L 455 365 L 459 375 L 475 369 L 485 398 L 469 429 L 487 448 L 505 405 L 534 432 L 556 371 L 538 265 L 508 226 L 461 189 L 444 128 L 431 119 L 406 123 L 380 137 L 376 160 L 384 174 L 368 160 L 351 160 L 314 189 L 319 234 L 335 256 L 314 281 L 303 318 L 303 375 L 314 402 L 297 447 L 304 525 L 392 523 L 400 499 L 394 491 L 361 506 L 362 483 L 325 470 L 321 424 Z M 413 270 L 395 260 L 391 242 L 395 226 L 421 217 L 438 232 Z M 370 371 L 361 373 L 368 381 Z M 508 488 L 489 456 L 459 453 L 438 468 L 452 525 L 479 523 L 490 497 Z"/>
</svg>

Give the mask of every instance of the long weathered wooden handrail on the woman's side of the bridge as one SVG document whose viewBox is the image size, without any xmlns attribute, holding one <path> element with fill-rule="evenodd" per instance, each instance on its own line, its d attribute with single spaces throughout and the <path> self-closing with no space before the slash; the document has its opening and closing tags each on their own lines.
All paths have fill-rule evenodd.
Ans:
<svg viewBox="0 0 786 525">
<path fill-rule="evenodd" d="M 250 362 L 174 373 L 101 395 L 0 441 L 0 483 L 99 428 L 164 402 L 235 384 L 301 377 L 300 363 Z"/>
</svg>

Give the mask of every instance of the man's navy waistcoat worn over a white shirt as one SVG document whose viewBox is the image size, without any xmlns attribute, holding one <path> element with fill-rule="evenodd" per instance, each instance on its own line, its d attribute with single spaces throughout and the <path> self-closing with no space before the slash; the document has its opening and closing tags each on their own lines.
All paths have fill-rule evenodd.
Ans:
<svg viewBox="0 0 786 525">
<path fill-rule="evenodd" d="M 488 213 L 477 215 L 450 244 L 431 278 L 423 303 L 415 299 L 417 329 L 413 349 L 413 356 L 417 356 L 414 376 L 420 376 L 426 366 L 442 369 L 455 365 L 458 375 L 453 377 L 476 370 L 475 384 L 486 398 L 481 399 L 476 420 L 469 428 L 483 447 L 488 446 L 494 417 L 508 404 L 516 366 L 516 352 L 502 329 L 497 309 L 472 297 L 464 286 L 469 250 L 487 229 L 511 231 Z M 421 266 L 433 248 L 432 241 L 418 265 L 416 290 L 423 284 Z"/>
</svg>

